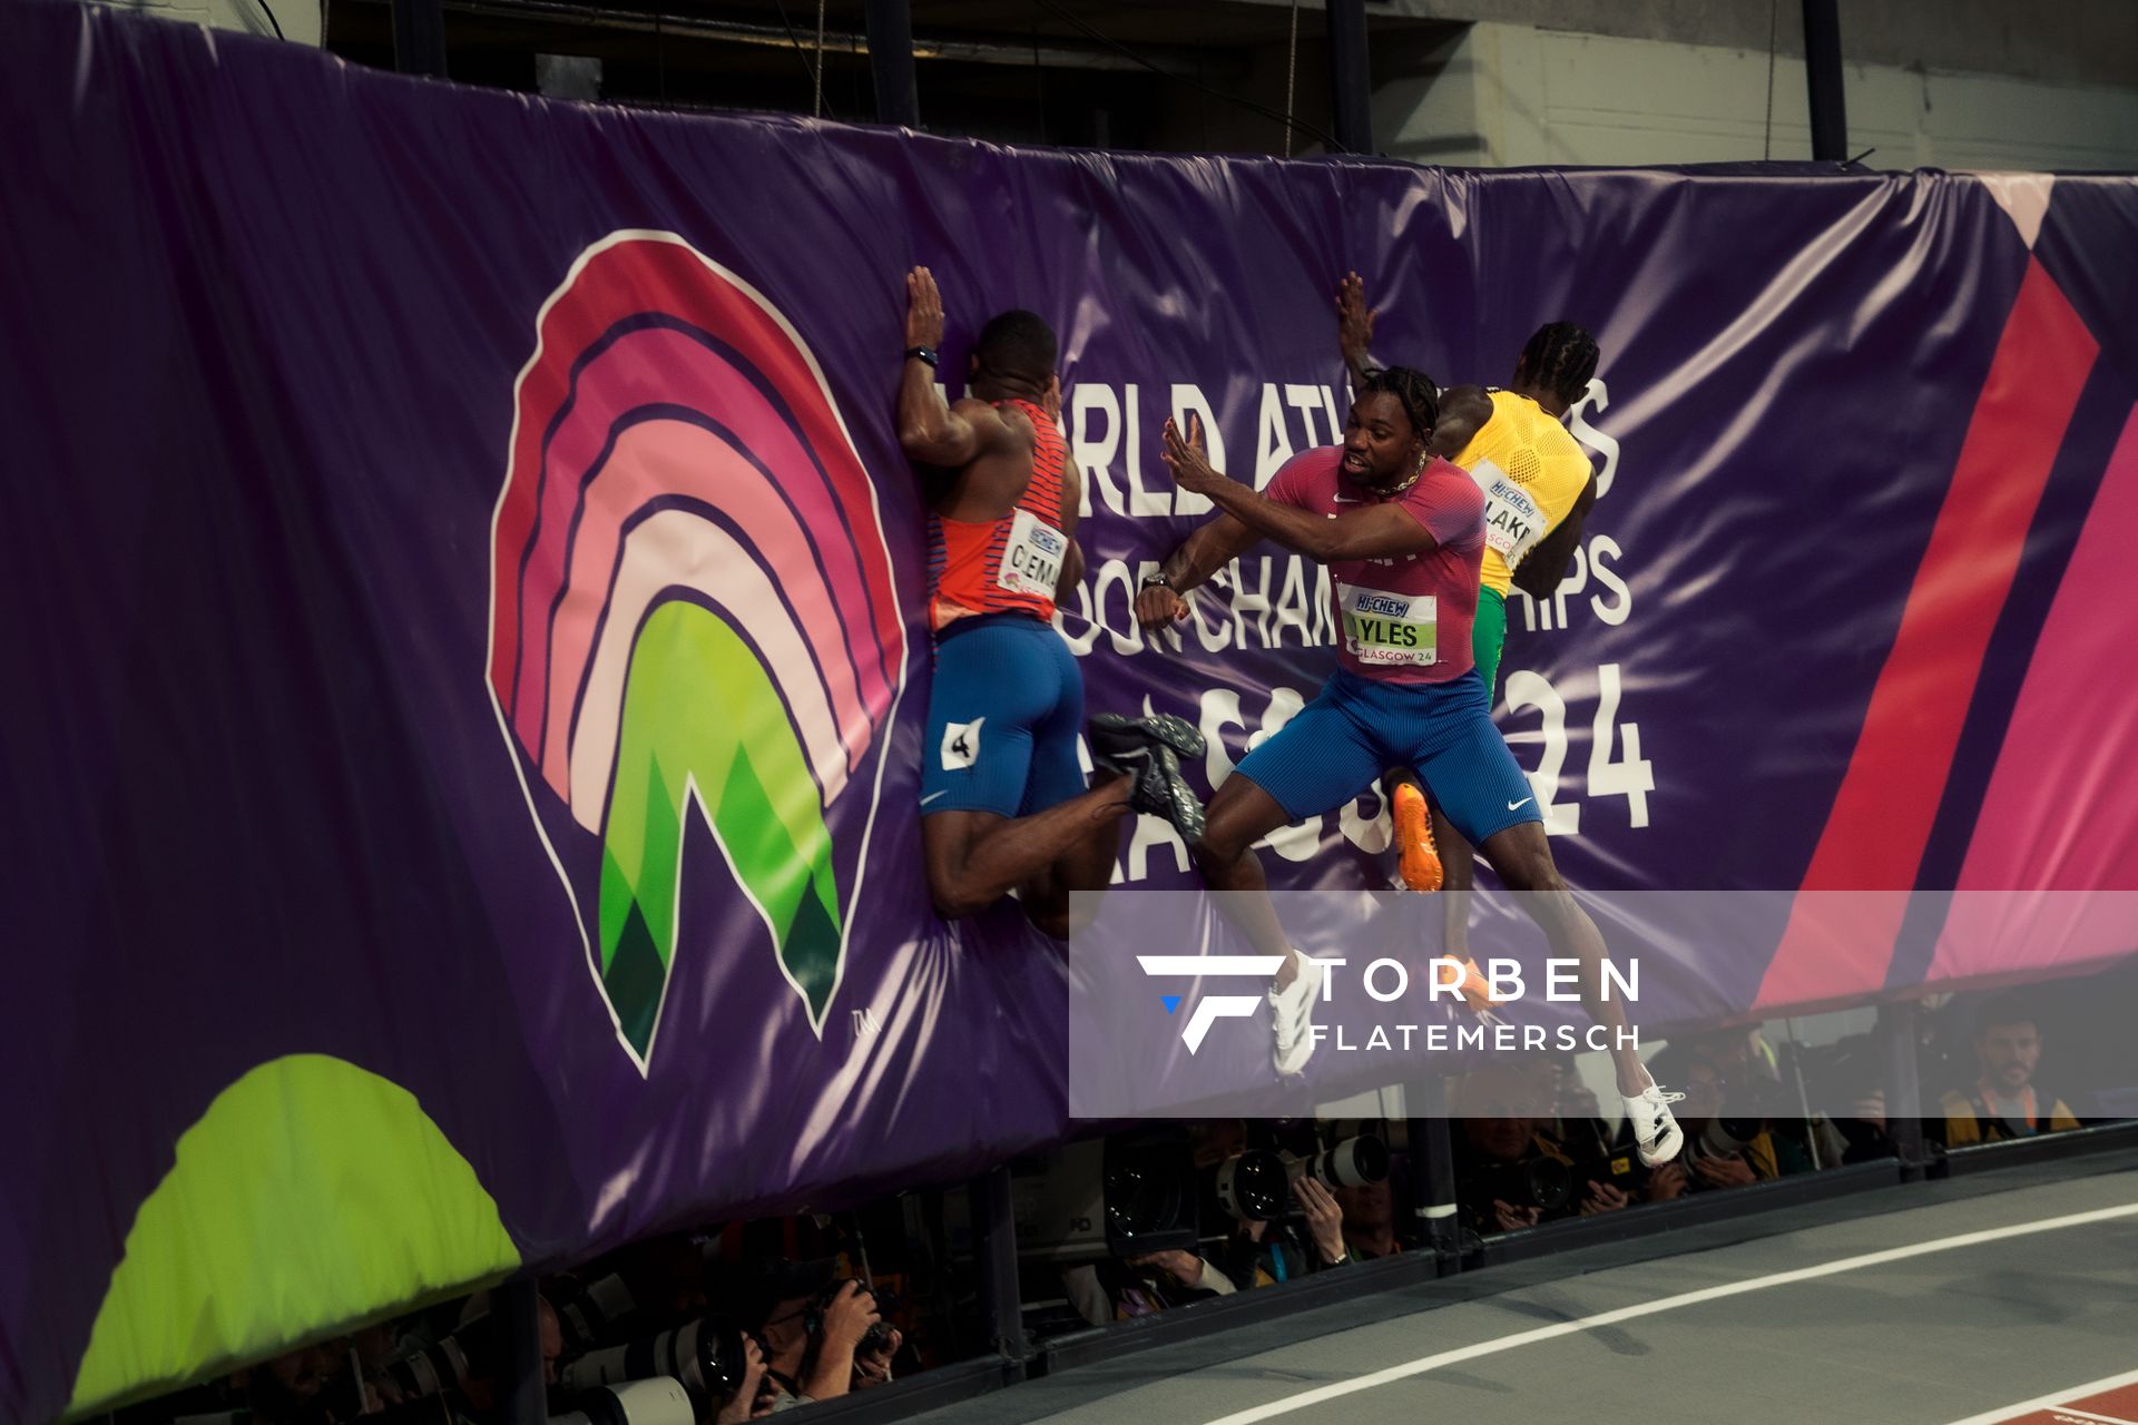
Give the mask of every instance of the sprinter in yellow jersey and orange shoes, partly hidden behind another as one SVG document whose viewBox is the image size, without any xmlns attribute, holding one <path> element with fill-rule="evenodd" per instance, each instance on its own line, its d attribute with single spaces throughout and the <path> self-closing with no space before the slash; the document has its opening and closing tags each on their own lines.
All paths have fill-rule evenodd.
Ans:
<svg viewBox="0 0 2138 1425">
<path fill-rule="evenodd" d="M 1349 273 L 1336 288 L 1336 340 L 1353 385 L 1364 385 L 1377 370 L 1368 353 L 1375 316 L 1366 306 L 1366 284 Z M 1507 590 L 1548 598 L 1565 577 L 1595 504 L 1589 453 L 1563 425 L 1595 370 L 1595 338 L 1574 323 L 1552 323 L 1529 338 L 1514 363 L 1514 380 L 1503 389 L 1450 387 L 1441 393 L 1432 453 L 1467 470 L 1486 498 L 1486 551 L 1471 645 L 1492 703 L 1499 703 L 1499 658 L 1507 641 Z M 1428 808 L 1409 767 L 1390 769 L 1383 788 L 1396 820 L 1403 880 L 1413 891 L 1439 891 L 1445 878 L 1447 955 L 1467 961 L 1471 846 L 1437 808 Z M 1462 989 L 1473 1006 L 1490 1008 L 1482 983 L 1471 974 Z"/>
</svg>

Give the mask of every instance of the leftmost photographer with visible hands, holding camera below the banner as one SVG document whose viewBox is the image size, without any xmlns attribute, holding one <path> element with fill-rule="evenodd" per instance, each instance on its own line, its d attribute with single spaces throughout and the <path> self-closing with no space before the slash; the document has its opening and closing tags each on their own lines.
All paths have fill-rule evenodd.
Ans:
<svg viewBox="0 0 2138 1425">
<path fill-rule="evenodd" d="M 759 1335 L 765 1342 L 761 1414 L 889 1380 L 892 1357 L 904 1337 L 885 1327 L 868 1344 L 883 1320 L 877 1297 L 851 1278 L 836 1280 L 834 1271 L 832 1258 L 765 1263 L 759 1284 Z"/>
</svg>

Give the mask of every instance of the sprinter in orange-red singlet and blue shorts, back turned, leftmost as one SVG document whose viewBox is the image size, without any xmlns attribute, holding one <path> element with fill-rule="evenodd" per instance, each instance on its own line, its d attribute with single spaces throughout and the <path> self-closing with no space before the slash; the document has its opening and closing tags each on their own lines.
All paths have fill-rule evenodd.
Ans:
<svg viewBox="0 0 2138 1425">
<path fill-rule="evenodd" d="M 1165 816 L 1191 842 L 1202 835 L 1202 803 L 1178 758 L 1202 756 L 1204 743 L 1180 718 L 1095 718 L 1099 780 L 1084 786 L 1084 677 L 1054 632 L 1056 590 L 1084 568 L 1054 329 L 1033 312 L 994 316 L 956 406 L 934 385 L 941 342 L 943 297 L 915 267 L 898 442 L 939 472 L 928 487 L 928 891 L 945 919 L 1018 891 L 1039 929 L 1067 936 L 1069 893 L 1105 889 L 1125 812 Z"/>
</svg>

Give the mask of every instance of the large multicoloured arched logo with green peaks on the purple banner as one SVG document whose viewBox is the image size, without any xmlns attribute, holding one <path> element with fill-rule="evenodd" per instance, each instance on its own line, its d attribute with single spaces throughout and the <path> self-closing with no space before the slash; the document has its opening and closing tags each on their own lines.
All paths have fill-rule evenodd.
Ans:
<svg viewBox="0 0 2138 1425">
<path fill-rule="evenodd" d="M 693 808 L 821 1034 L 907 635 L 874 483 L 795 329 L 673 233 L 582 252 L 515 385 L 490 579 L 498 726 L 639 1072 Z"/>
</svg>

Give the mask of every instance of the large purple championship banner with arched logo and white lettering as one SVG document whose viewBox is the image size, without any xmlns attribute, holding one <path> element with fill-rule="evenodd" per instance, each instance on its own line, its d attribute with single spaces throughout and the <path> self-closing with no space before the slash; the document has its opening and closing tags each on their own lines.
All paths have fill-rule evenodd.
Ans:
<svg viewBox="0 0 2138 1425">
<path fill-rule="evenodd" d="M 1358 269 L 1441 382 L 1601 344 L 1601 498 L 1501 709 L 1569 880 L 2138 887 L 2129 179 L 1020 152 L 58 4 L 9 15 L 0 126 L 4 1419 L 1065 1132 L 1060 949 L 919 867 L 915 263 L 945 372 L 1058 327 L 1063 635 L 1095 711 L 1212 733 L 1204 788 L 1330 628 L 1272 547 L 1133 628 L 1202 517 L 1157 432 L 1255 481 L 1330 442 Z M 1379 889 L 1385 835 L 1368 795 L 1264 859 Z M 1193 884 L 1148 818 L 1120 880 Z M 1894 904 L 1687 955 L 1687 1004 L 2134 949 Z"/>
</svg>

